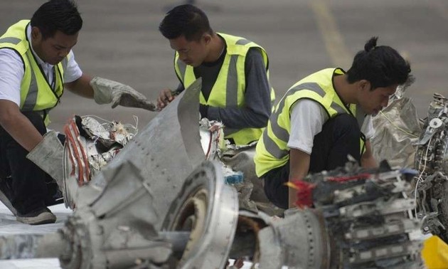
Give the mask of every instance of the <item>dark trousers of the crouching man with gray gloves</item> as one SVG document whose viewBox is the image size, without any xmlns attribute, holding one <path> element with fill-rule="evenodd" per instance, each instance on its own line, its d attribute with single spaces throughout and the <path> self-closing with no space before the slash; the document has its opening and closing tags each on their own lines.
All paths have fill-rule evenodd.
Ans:
<svg viewBox="0 0 448 269">
<path fill-rule="evenodd" d="M 37 112 L 23 112 L 41 133 L 46 127 Z M 28 151 L 0 127 L 0 177 L 11 187 L 11 204 L 25 214 L 54 203 L 58 191 L 55 181 L 29 159 Z"/>
</svg>

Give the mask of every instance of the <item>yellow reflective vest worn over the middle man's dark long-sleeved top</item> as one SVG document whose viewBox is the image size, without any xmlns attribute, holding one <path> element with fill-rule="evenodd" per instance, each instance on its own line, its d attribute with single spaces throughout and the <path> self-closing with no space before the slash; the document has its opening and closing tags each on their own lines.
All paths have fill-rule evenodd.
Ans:
<svg viewBox="0 0 448 269">
<path fill-rule="evenodd" d="M 259 48 L 265 62 L 267 78 L 269 79 L 268 58 L 266 51 L 252 41 L 238 36 L 230 36 L 225 33 L 218 33 L 227 46 L 223 65 L 218 73 L 215 84 L 210 92 L 208 100 L 203 96 L 202 92 L 199 96 L 199 102 L 203 105 L 211 107 L 242 107 L 245 105 L 245 57 L 250 48 Z M 174 69 L 176 75 L 183 84 L 184 88 L 188 88 L 191 83 L 196 80 L 194 68 L 191 65 L 183 63 L 176 52 L 174 58 Z M 275 100 L 274 89 L 271 88 L 271 101 Z M 248 144 L 260 138 L 264 128 L 244 128 L 240 130 L 224 129 L 225 139 L 232 138 L 235 144 Z"/>
</svg>

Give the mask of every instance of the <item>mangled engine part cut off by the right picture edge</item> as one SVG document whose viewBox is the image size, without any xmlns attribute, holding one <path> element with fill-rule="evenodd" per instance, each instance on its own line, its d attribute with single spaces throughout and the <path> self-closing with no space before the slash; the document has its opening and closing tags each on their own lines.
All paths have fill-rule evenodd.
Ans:
<svg viewBox="0 0 448 269">
<path fill-rule="evenodd" d="M 417 216 L 422 231 L 448 243 L 448 99 L 434 94 L 424 132 L 417 143 L 415 178 Z"/>
</svg>

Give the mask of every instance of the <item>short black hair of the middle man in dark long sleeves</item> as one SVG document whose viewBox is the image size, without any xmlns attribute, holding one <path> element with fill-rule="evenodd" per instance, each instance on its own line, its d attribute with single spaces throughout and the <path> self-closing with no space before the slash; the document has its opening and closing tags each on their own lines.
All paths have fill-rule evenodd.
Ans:
<svg viewBox="0 0 448 269">
<path fill-rule="evenodd" d="M 168 39 L 184 36 L 187 41 L 198 41 L 203 33 L 213 34 L 207 15 L 196 6 L 176 6 L 166 14 L 159 24 L 159 31 Z"/>
</svg>

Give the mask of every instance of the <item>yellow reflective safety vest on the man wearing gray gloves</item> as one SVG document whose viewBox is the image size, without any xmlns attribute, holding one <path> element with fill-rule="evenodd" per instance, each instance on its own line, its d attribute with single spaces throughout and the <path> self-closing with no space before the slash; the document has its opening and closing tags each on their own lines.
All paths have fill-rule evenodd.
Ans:
<svg viewBox="0 0 448 269">
<path fill-rule="evenodd" d="M 26 27 L 29 20 L 22 20 L 8 28 L 0 37 L 0 49 L 9 48 L 21 56 L 25 73 L 21 81 L 20 110 L 23 112 L 39 112 L 46 125 L 50 122 L 48 111 L 58 105 L 63 95 L 64 70 L 68 57 L 54 67 L 54 89 L 43 73 L 40 65 L 31 51 L 31 43 L 26 36 Z"/>
</svg>

